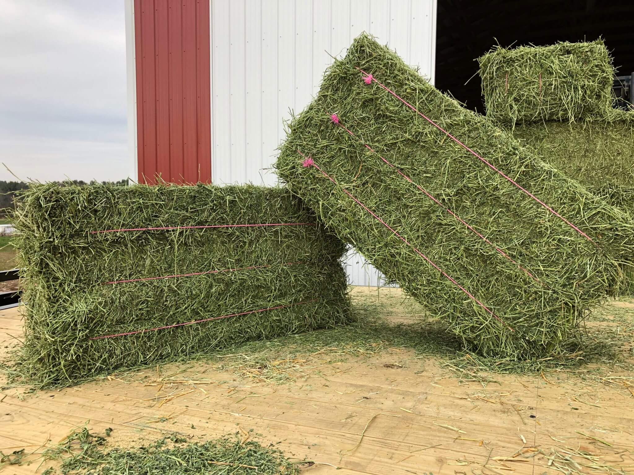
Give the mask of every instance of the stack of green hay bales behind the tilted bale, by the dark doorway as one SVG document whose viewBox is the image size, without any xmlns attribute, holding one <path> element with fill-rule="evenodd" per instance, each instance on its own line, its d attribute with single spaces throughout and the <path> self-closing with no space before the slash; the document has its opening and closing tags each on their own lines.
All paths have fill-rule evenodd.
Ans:
<svg viewBox="0 0 634 475">
<path fill-rule="evenodd" d="M 496 46 L 478 61 L 487 117 L 634 216 L 634 113 L 612 108 L 616 72 L 601 40 Z"/>
</svg>

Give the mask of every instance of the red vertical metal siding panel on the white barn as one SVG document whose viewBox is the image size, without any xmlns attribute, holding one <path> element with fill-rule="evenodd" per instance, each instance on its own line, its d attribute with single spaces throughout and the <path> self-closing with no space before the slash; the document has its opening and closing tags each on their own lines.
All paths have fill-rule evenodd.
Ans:
<svg viewBox="0 0 634 475">
<path fill-rule="evenodd" d="M 139 182 L 211 182 L 209 0 L 134 0 Z"/>
</svg>

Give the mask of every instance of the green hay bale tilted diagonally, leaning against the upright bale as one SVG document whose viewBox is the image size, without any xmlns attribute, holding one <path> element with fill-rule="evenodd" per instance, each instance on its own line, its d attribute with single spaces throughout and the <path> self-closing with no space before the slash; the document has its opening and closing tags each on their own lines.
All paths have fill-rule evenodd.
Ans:
<svg viewBox="0 0 634 475">
<path fill-rule="evenodd" d="M 384 91 L 372 73 L 418 111 L 580 227 L 593 243 L 521 193 L 469 151 Z M 340 125 L 333 124 L 337 113 Z M 367 143 L 376 153 L 365 148 Z M 304 157 L 314 160 L 335 182 Z M 498 253 L 444 207 L 467 221 Z M 618 291 L 617 262 L 634 257 L 630 217 L 541 162 L 491 120 L 437 91 L 387 47 L 359 36 L 328 70 L 316 99 L 295 117 L 276 163 L 289 189 L 339 238 L 355 246 L 389 281 L 445 322 L 467 348 L 510 360 L 552 355 L 578 336 L 579 324 Z M 434 269 L 349 195 L 422 251 L 500 322 Z"/>
</svg>

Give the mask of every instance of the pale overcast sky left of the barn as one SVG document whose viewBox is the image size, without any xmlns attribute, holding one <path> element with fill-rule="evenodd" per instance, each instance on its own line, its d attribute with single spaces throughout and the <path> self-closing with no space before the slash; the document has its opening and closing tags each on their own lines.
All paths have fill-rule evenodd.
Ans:
<svg viewBox="0 0 634 475">
<path fill-rule="evenodd" d="M 0 0 L 0 162 L 21 179 L 119 180 L 123 0 Z M 0 180 L 15 180 L 0 165 Z"/>
</svg>

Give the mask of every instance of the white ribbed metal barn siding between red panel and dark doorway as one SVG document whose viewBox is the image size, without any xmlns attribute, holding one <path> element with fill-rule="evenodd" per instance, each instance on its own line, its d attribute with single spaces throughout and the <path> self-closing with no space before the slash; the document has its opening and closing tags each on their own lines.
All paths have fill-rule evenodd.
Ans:
<svg viewBox="0 0 634 475">
<path fill-rule="evenodd" d="M 375 35 L 434 80 L 436 0 L 212 0 L 212 180 L 273 185 L 283 121 L 319 90 L 333 56 L 361 32 Z M 380 275 L 358 254 L 353 284 Z"/>
</svg>

